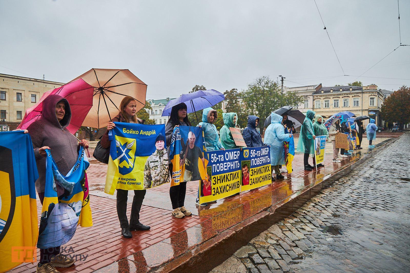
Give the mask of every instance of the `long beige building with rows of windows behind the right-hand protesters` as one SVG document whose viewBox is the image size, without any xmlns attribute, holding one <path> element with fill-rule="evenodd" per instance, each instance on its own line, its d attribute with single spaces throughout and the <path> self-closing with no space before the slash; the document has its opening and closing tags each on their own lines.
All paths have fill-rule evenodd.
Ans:
<svg viewBox="0 0 410 273">
<path fill-rule="evenodd" d="M 377 85 L 330 86 L 313 92 L 313 111 L 328 118 L 337 112 L 350 111 L 356 116 L 369 116 L 381 126 L 380 108 L 385 95 Z M 368 121 L 364 121 L 367 125 Z"/>
</svg>

